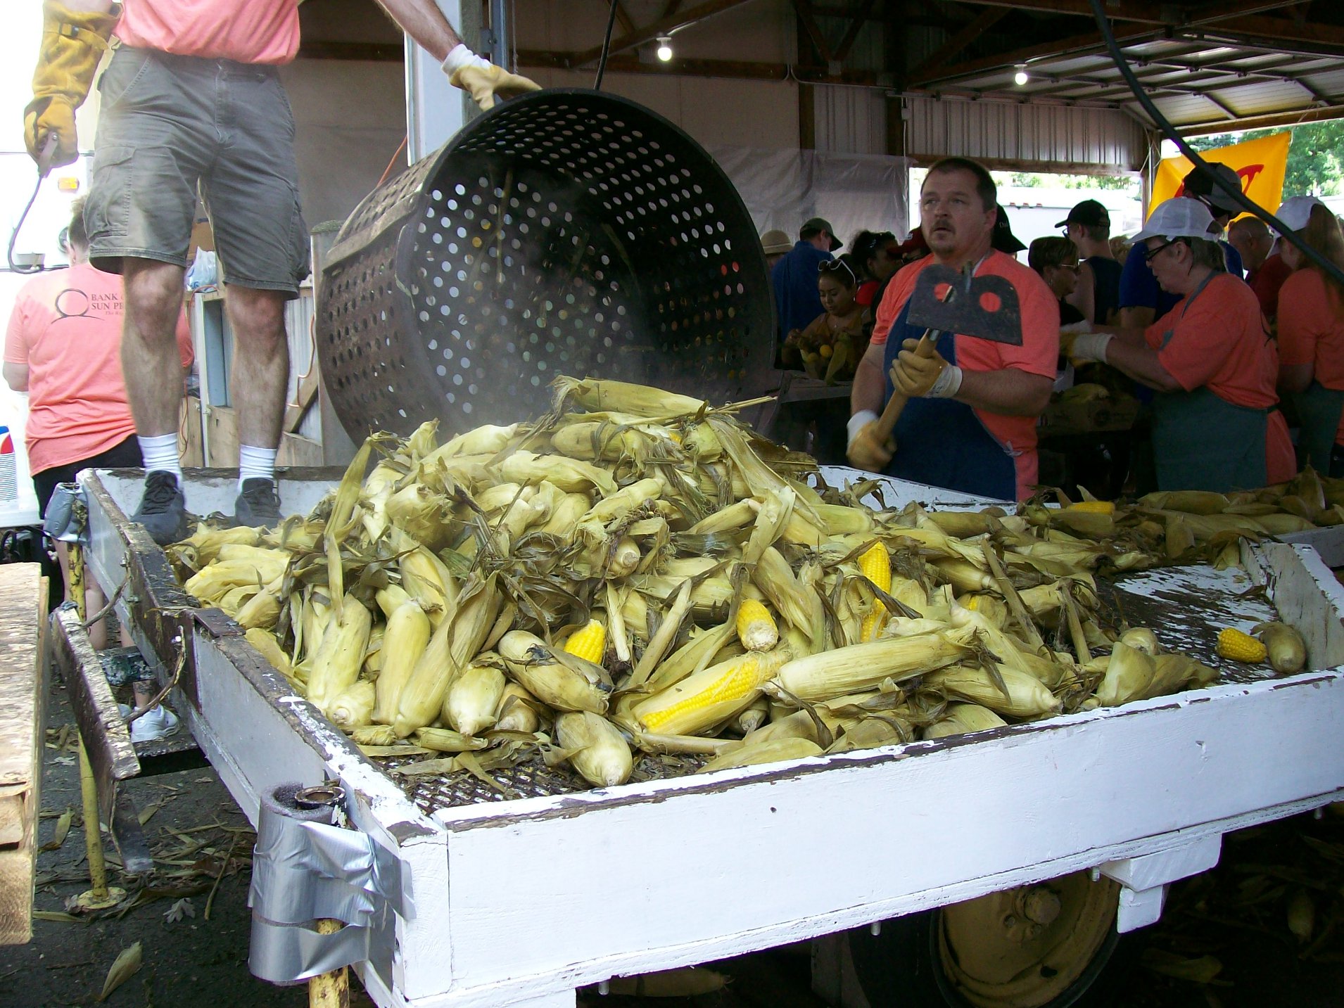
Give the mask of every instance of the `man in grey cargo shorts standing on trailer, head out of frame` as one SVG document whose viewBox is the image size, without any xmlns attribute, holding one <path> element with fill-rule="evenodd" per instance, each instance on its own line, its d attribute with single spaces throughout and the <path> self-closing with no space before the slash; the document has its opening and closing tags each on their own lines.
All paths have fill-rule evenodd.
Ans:
<svg viewBox="0 0 1344 1008">
<path fill-rule="evenodd" d="M 482 109 L 536 90 L 462 44 L 433 0 L 379 0 L 453 85 Z M 235 340 L 239 524 L 280 520 L 280 445 L 289 353 L 285 301 L 308 276 L 308 227 L 298 206 L 294 118 L 276 66 L 298 51 L 298 0 L 46 0 L 34 101 L 24 140 L 55 164 L 78 156 L 74 110 L 87 95 L 109 34 L 121 40 L 98 83 L 102 95 L 85 220 L 94 266 L 121 273 L 121 364 L 145 465 L 134 520 L 161 544 L 188 534 L 173 329 L 198 190 L 223 263 Z M 40 160 L 39 160 L 40 163 Z"/>
</svg>

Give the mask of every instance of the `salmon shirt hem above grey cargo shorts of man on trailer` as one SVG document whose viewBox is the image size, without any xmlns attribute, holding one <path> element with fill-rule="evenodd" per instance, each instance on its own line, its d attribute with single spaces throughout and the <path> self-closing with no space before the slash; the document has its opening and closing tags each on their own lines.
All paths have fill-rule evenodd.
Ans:
<svg viewBox="0 0 1344 1008">
<path fill-rule="evenodd" d="M 222 11 L 222 7 L 227 7 Z M 122 0 L 126 46 L 179 56 L 289 63 L 298 52 L 298 0 Z"/>
</svg>

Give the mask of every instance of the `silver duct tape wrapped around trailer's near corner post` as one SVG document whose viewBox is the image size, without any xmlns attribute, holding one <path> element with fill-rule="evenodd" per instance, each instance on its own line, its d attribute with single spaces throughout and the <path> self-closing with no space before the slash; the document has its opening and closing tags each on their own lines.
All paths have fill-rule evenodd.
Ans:
<svg viewBox="0 0 1344 1008">
<path fill-rule="evenodd" d="M 304 790 L 289 784 L 262 796 L 247 895 L 247 968 L 273 984 L 364 961 L 390 976 L 403 903 L 401 863 L 367 833 L 332 824 L 340 789 L 329 789 L 337 797 L 316 808 L 296 801 Z M 320 919 L 345 926 L 320 934 L 313 927 Z"/>
</svg>

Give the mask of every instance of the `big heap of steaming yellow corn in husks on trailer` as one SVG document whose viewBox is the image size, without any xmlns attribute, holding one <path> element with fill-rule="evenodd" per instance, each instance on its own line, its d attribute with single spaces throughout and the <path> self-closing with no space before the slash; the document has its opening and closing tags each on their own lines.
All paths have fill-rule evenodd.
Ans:
<svg viewBox="0 0 1344 1008">
<path fill-rule="evenodd" d="M 171 552 L 371 755 L 489 780 L 540 751 L 601 786 L 641 751 L 739 766 L 1207 684 L 1105 626 L 1095 577 L 1285 524 L 1254 495 L 875 509 L 732 413 L 562 378 L 535 423 L 374 435 L 306 517 Z M 1310 478 L 1301 521 L 1341 513 Z"/>
</svg>

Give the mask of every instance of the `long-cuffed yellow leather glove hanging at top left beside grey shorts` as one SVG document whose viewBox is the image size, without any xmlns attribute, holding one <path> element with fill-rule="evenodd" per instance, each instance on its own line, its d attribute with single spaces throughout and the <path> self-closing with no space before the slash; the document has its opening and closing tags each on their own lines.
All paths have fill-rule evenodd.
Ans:
<svg viewBox="0 0 1344 1008">
<path fill-rule="evenodd" d="M 42 50 L 32 74 L 32 101 L 23 110 L 23 142 L 40 164 L 50 134 L 56 136 L 51 165 L 79 156 L 75 109 L 89 97 L 98 60 L 120 13 L 67 11 L 55 0 L 42 5 Z"/>
</svg>

